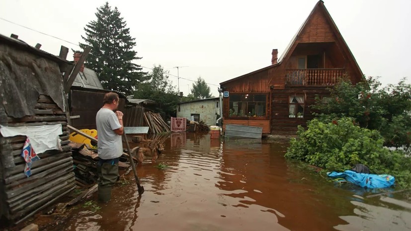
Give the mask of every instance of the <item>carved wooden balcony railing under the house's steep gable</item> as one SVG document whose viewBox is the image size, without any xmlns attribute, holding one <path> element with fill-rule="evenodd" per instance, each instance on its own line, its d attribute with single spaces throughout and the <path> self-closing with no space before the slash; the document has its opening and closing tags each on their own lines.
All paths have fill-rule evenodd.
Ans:
<svg viewBox="0 0 411 231">
<path fill-rule="evenodd" d="M 332 86 L 345 74 L 345 69 L 288 69 L 286 73 L 286 85 Z"/>
</svg>

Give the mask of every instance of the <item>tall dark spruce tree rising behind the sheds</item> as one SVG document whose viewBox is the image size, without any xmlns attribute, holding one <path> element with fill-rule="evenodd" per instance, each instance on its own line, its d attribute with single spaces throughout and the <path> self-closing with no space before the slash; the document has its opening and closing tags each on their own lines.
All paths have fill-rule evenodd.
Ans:
<svg viewBox="0 0 411 231">
<path fill-rule="evenodd" d="M 106 2 L 97 8 L 95 15 L 97 20 L 84 27 L 85 44 L 80 43 L 83 49 L 91 47 L 86 67 L 97 73 L 104 89 L 132 94 L 145 76 L 140 65 L 134 63 L 141 59 L 133 50 L 135 38 L 130 36 L 130 29 L 117 7 L 113 10 Z"/>
</svg>

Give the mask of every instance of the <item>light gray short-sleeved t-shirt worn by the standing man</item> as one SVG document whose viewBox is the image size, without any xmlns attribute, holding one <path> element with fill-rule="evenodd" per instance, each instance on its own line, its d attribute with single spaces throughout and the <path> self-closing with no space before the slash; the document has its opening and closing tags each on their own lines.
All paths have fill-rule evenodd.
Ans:
<svg viewBox="0 0 411 231">
<path fill-rule="evenodd" d="M 97 150 L 98 157 L 102 159 L 113 159 L 123 154 L 123 143 L 121 136 L 114 130 L 121 128 L 116 114 L 108 109 L 101 108 L 95 116 L 97 125 Z"/>
</svg>

